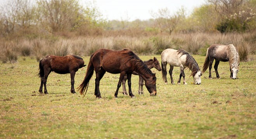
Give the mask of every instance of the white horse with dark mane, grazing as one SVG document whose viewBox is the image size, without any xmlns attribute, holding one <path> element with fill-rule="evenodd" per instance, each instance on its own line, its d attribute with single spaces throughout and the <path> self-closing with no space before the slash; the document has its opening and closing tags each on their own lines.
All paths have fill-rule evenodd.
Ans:
<svg viewBox="0 0 256 139">
<path fill-rule="evenodd" d="M 187 85 L 186 80 L 185 80 L 185 73 L 184 73 L 185 68 L 189 68 L 192 71 L 191 75 L 194 78 L 195 84 L 197 84 L 197 85 L 201 84 L 202 72 L 201 72 L 197 62 L 193 58 L 193 56 L 191 56 L 185 50 L 183 50 L 183 49 L 179 49 L 179 50 L 165 49 L 161 54 L 161 58 L 162 58 L 162 63 L 161 63 L 162 76 L 163 76 L 163 80 L 164 80 L 165 84 L 167 84 L 167 79 L 166 79 L 167 63 L 170 64 L 169 74 L 171 76 L 171 84 L 174 84 L 173 76 L 172 76 L 174 66 L 180 67 L 180 78 L 178 80 L 178 84 L 180 84 L 181 77 L 183 77 L 183 83 L 184 83 L 184 85 Z"/>
</svg>

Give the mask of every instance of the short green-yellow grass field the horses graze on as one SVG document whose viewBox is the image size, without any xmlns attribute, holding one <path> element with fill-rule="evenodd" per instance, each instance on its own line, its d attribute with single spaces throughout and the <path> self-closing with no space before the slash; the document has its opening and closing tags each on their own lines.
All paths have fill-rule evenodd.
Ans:
<svg viewBox="0 0 256 139">
<path fill-rule="evenodd" d="M 156 57 L 161 62 L 161 56 Z M 201 67 L 204 56 L 194 58 Z M 89 57 L 83 59 L 88 64 Z M 144 95 L 138 95 L 138 76 L 133 75 L 136 98 L 123 95 L 122 88 L 114 98 L 119 74 L 106 73 L 100 82 L 103 99 L 94 96 L 95 73 L 84 98 L 70 93 L 69 74 L 56 73 L 48 77 L 49 94 L 41 95 L 36 59 L 21 57 L 16 68 L 10 66 L 0 64 L 0 138 L 256 138 L 256 60 L 240 63 L 237 80 L 229 78 L 229 64 L 222 62 L 221 79 L 215 73 L 208 79 L 207 71 L 201 85 L 191 84 L 188 69 L 188 85 L 177 85 L 178 67 L 173 71 L 175 85 L 169 75 L 165 85 L 161 71 L 152 69 L 157 76 L 155 97 L 145 87 Z M 75 88 L 86 68 L 76 73 Z"/>
</svg>

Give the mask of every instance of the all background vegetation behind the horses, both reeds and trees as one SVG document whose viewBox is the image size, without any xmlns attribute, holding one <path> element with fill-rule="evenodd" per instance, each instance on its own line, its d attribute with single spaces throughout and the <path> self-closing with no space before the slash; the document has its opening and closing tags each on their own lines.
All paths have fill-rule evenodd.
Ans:
<svg viewBox="0 0 256 139">
<path fill-rule="evenodd" d="M 88 56 L 99 48 L 160 54 L 183 48 L 202 54 L 211 44 L 234 44 L 242 61 L 255 54 L 256 0 L 208 0 L 187 15 L 184 8 L 150 12 L 149 20 L 107 20 L 95 3 L 79 0 L 9 0 L 0 13 L 3 62 L 18 56 Z M 11 63 L 12 63 L 11 62 Z"/>
</svg>

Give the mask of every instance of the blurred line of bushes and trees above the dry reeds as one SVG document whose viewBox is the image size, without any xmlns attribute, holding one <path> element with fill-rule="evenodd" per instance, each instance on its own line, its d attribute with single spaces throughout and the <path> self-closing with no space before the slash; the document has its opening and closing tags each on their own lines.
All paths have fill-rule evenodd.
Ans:
<svg viewBox="0 0 256 139">
<path fill-rule="evenodd" d="M 9 0 L 1 5 L 0 36 L 87 36 L 172 34 L 173 32 L 248 32 L 256 29 L 256 0 L 207 0 L 192 14 L 181 7 L 150 12 L 149 20 L 104 19 L 95 3 L 79 0 Z M 132 33 L 131 33 L 132 34 Z"/>
</svg>

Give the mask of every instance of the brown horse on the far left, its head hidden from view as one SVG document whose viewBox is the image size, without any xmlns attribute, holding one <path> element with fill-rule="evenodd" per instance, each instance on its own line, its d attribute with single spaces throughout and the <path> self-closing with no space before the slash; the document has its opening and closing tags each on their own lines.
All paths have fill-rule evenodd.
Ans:
<svg viewBox="0 0 256 139">
<path fill-rule="evenodd" d="M 46 82 L 48 75 L 54 71 L 59 74 L 67 74 L 70 73 L 71 76 L 71 93 L 76 93 L 74 90 L 74 76 L 78 69 L 86 66 L 83 58 L 74 55 L 67 56 L 53 56 L 48 55 L 45 56 L 39 62 L 39 73 L 38 76 L 41 78 L 41 85 L 39 88 L 39 92 L 43 93 L 43 85 L 45 86 L 45 94 L 48 94 L 46 89 Z"/>
</svg>

